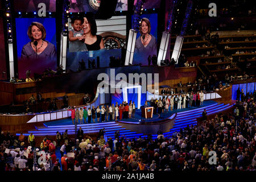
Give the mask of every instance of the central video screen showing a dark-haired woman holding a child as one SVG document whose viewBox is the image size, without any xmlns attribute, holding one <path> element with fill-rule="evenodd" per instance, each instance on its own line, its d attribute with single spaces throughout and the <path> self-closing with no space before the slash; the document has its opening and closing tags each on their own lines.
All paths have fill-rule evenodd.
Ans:
<svg viewBox="0 0 256 182">
<path fill-rule="evenodd" d="M 120 66 L 121 48 L 126 48 L 126 16 L 103 20 L 86 13 L 69 18 L 68 69 L 77 71 L 82 60 L 85 68 L 110 67 L 112 57 L 119 60 L 116 65 Z"/>
</svg>

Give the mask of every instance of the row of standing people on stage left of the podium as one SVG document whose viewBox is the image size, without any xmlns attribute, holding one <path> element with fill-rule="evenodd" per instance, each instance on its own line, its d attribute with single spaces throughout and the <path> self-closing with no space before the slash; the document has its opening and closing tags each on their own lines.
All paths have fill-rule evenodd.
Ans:
<svg viewBox="0 0 256 182">
<path fill-rule="evenodd" d="M 71 118 L 72 123 L 74 121 L 76 123 L 82 124 L 86 122 L 86 118 L 88 117 L 88 123 L 91 123 L 93 120 L 93 123 L 95 123 L 95 120 L 97 119 L 97 122 L 106 122 L 106 121 L 117 121 L 118 119 L 128 119 L 128 118 L 135 118 L 135 104 L 134 102 L 130 101 L 128 104 L 126 101 L 123 101 L 122 104 L 119 104 L 115 102 L 115 105 L 101 105 L 97 107 L 88 108 L 86 110 L 86 107 L 83 109 L 75 109 L 75 107 L 72 107 L 72 109 L 69 109 L 71 111 Z"/>
</svg>

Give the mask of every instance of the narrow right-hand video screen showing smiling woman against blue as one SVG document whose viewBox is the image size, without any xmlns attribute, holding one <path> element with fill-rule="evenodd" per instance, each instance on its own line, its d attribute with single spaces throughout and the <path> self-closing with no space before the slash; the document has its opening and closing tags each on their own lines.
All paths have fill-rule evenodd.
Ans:
<svg viewBox="0 0 256 182">
<path fill-rule="evenodd" d="M 141 28 L 139 28 L 135 42 L 133 64 L 152 65 L 154 63 L 148 61 L 148 57 L 151 57 L 150 60 L 153 56 L 157 57 L 158 15 L 143 14 L 141 18 Z"/>
</svg>

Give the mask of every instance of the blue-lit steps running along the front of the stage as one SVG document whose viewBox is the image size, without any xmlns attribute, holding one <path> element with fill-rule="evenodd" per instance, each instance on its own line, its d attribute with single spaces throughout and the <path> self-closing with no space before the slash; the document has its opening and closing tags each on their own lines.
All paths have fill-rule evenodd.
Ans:
<svg viewBox="0 0 256 182">
<path fill-rule="evenodd" d="M 203 113 L 204 109 L 207 110 L 208 115 L 209 114 L 217 114 L 221 111 L 224 111 L 226 109 L 229 109 L 233 105 L 230 104 L 212 104 L 205 107 L 183 111 L 180 113 L 177 113 L 177 117 L 175 119 L 175 125 L 174 127 L 167 133 L 164 133 L 164 137 L 171 137 L 172 134 L 177 131 L 179 132 L 180 129 L 187 127 L 187 125 L 196 125 L 197 120 L 196 118 L 201 117 L 201 114 Z M 68 130 L 68 134 L 75 134 L 75 127 L 74 125 L 55 125 L 55 126 L 47 126 L 45 125 L 45 128 L 36 129 L 34 131 L 28 131 L 29 135 L 30 133 L 33 133 L 35 136 L 45 136 L 45 135 L 56 135 L 56 131 L 59 131 L 60 133 L 64 133 L 65 130 Z M 77 129 L 81 126 L 82 130 L 84 130 L 84 134 L 86 133 L 97 133 L 100 129 L 105 128 L 105 136 L 106 137 L 112 137 L 114 138 L 115 131 L 119 130 L 120 136 L 125 135 L 125 137 L 128 139 L 132 138 L 139 138 L 139 137 L 147 137 L 147 135 L 136 133 L 135 131 L 128 130 L 126 128 L 123 128 L 122 126 L 119 126 L 116 122 L 103 122 L 103 123 L 90 123 L 90 124 L 82 124 L 77 125 Z M 19 135 L 19 134 L 16 134 Z M 157 135 L 152 135 L 152 138 L 155 139 Z"/>
</svg>

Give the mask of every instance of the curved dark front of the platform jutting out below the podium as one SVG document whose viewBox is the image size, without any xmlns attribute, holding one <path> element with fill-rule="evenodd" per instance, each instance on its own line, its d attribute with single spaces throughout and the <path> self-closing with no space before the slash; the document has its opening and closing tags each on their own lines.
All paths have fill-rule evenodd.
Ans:
<svg viewBox="0 0 256 182">
<path fill-rule="evenodd" d="M 125 127 L 131 131 L 143 134 L 156 134 L 158 131 L 166 133 L 175 125 L 175 118 L 177 113 L 172 114 L 171 117 L 155 122 L 127 122 L 117 121 L 118 125 Z"/>
</svg>

